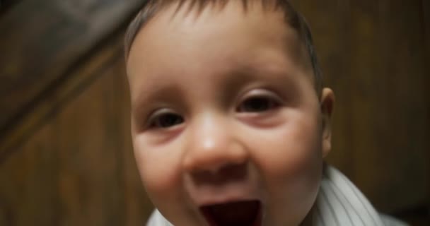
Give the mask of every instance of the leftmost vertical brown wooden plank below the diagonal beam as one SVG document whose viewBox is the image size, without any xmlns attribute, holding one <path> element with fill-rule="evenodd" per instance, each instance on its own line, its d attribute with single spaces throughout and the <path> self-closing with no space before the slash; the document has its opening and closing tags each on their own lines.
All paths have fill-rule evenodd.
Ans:
<svg viewBox="0 0 430 226">
<path fill-rule="evenodd" d="M 57 142 L 41 128 L 0 165 L 0 225 L 57 225 Z"/>
</svg>

